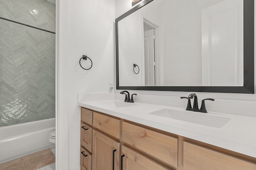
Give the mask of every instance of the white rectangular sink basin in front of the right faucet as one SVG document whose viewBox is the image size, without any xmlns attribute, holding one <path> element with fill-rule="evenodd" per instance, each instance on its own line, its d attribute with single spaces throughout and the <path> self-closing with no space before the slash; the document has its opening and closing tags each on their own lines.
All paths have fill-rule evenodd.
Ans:
<svg viewBox="0 0 256 170">
<path fill-rule="evenodd" d="M 221 128 L 225 126 L 231 120 L 230 117 L 222 117 L 217 115 L 210 115 L 208 113 L 199 113 L 193 111 L 182 111 L 174 109 L 162 109 L 154 111 L 149 114 L 216 128 Z"/>
</svg>

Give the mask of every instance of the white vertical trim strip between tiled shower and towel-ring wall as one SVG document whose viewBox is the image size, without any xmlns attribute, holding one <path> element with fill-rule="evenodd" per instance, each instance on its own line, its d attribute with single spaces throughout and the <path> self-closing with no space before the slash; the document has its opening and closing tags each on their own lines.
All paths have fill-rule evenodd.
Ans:
<svg viewBox="0 0 256 170">
<path fill-rule="evenodd" d="M 56 1 L 56 170 L 68 170 L 68 0 Z"/>
</svg>

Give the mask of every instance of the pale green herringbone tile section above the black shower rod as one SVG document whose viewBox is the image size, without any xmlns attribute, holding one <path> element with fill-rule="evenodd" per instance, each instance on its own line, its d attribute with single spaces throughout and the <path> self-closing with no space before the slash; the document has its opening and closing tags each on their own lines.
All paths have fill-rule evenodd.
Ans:
<svg viewBox="0 0 256 170">
<path fill-rule="evenodd" d="M 0 17 L 55 32 L 55 4 L 47 0 L 0 0 Z"/>
</svg>

